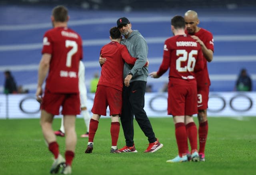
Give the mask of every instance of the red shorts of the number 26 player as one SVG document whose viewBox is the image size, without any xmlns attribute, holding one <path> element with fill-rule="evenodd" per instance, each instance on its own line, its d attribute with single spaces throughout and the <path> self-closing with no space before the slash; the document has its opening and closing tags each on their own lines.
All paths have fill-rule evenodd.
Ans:
<svg viewBox="0 0 256 175">
<path fill-rule="evenodd" d="M 169 86 L 168 115 L 193 115 L 197 113 L 196 84 Z"/>
</svg>

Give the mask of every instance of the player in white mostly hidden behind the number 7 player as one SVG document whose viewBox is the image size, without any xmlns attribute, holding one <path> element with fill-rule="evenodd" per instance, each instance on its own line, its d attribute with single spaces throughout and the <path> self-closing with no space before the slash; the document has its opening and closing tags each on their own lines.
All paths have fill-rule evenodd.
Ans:
<svg viewBox="0 0 256 175">
<path fill-rule="evenodd" d="M 87 89 L 84 82 L 84 74 L 85 74 L 85 68 L 84 63 L 80 61 L 79 63 L 79 71 L 78 71 L 78 87 L 79 87 L 79 94 L 80 94 L 80 103 L 81 103 L 81 113 L 84 117 L 84 123 L 86 125 L 86 133 L 82 134 L 80 137 L 88 137 L 89 136 L 89 125 L 90 125 L 90 119 L 91 116 L 87 110 Z M 55 135 L 64 137 L 65 136 L 65 130 L 64 130 L 64 122 L 63 117 L 61 118 L 61 126 L 58 131 L 54 132 Z"/>
</svg>

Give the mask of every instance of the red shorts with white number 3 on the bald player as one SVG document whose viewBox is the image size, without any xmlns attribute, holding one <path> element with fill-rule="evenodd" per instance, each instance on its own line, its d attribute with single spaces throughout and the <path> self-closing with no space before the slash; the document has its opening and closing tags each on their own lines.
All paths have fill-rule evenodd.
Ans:
<svg viewBox="0 0 256 175">
<path fill-rule="evenodd" d="M 197 87 L 197 107 L 198 110 L 208 108 L 209 86 Z"/>
</svg>

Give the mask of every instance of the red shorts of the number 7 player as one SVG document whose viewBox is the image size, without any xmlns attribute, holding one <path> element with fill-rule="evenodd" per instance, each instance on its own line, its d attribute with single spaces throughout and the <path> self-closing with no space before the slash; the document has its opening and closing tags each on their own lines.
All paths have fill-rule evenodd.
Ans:
<svg viewBox="0 0 256 175">
<path fill-rule="evenodd" d="M 41 109 L 59 115 L 60 106 L 62 106 L 62 115 L 80 114 L 79 93 L 51 93 L 45 90 Z"/>
</svg>

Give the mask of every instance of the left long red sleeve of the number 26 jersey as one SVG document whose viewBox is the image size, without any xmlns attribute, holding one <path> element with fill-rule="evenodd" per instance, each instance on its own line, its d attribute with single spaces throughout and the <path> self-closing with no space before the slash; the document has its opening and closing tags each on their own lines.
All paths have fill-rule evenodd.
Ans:
<svg viewBox="0 0 256 175">
<path fill-rule="evenodd" d="M 170 67 L 170 60 L 171 60 L 171 46 L 168 42 L 164 42 L 164 56 L 162 60 L 162 64 L 157 72 L 158 76 L 162 76 Z"/>
</svg>

